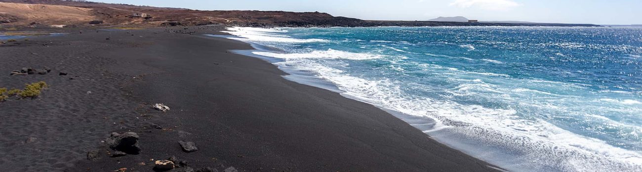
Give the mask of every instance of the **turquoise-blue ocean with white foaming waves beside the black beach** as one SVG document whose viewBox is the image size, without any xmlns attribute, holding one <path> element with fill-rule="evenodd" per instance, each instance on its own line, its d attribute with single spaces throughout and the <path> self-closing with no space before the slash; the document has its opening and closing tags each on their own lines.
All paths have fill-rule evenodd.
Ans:
<svg viewBox="0 0 642 172">
<path fill-rule="evenodd" d="M 642 27 L 228 29 L 501 168 L 642 171 Z"/>
</svg>

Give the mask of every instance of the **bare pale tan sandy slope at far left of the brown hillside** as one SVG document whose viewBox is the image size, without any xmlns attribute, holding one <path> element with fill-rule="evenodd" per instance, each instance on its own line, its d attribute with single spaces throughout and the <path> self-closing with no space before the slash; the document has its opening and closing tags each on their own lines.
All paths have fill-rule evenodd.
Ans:
<svg viewBox="0 0 642 172">
<path fill-rule="evenodd" d="M 40 24 L 78 24 L 94 20 L 91 8 L 47 4 L 0 3 L 0 13 L 19 17 L 17 23 L 39 22 Z"/>
</svg>

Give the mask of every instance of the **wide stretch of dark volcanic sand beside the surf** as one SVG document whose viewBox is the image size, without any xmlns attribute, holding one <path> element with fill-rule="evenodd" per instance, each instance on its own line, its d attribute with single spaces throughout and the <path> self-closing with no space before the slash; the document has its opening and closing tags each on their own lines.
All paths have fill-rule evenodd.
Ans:
<svg viewBox="0 0 642 172">
<path fill-rule="evenodd" d="M 0 44 L 0 87 L 50 85 L 40 98 L 0 103 L 0 167 L 152 171 L 150 159 L 175 155 L 218 171 L 496 171 L 377 107 L 287 81 L 270 63 L 227 52 L 251 49 L 247 43 L 202 36 L 221 28 L 86 29 Z M 53 71 L 8 75 L 23 66 Z M 155 103 L 171 110 L 155 111 Z M 108 157 L 101 141 L 125 131 L 139 134 L 141 153 Z M 181 140 L 198 151 L 183 152 Z M 101 159 L 87 160 L 96 148 Z"/>
</svg>

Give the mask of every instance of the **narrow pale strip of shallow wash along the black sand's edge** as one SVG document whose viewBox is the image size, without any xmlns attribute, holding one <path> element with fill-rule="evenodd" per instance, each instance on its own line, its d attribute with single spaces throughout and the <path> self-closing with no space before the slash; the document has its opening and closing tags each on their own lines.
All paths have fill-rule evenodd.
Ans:
<svg viewBox="0 0 642 172">
<path fill-rule="evenodd" d="M 393 26 L 394 27 L 394 26 Z M 465 27 L 465 26 L 462 26 Z M 224 32 L 227 33 L 227 32 Z M 213 37 L 218 37 L 218 38 L 229 38 L 231 40 L 236 40 L 234 38 L 243 38 L 240 36 L 221 36 L 221 35 L 207 35 L 207 36 L 213 36 Z M 238 40 L 239 42 L 245 42 L 242 40 Z M 325 79 L 316 77 L 312 72 L 306 71 L 306 70 L 301 70 L 299 68 L 295 68 L 293 66 L 286 66 L 286 65 L 277 65 L 275 63 L 282 62 L 284 59 L 279 59 L 279 58 L 273 58 L 270 56 L 262 56 L 259 54 L 254 54 L 253 52 L 275 52 L 275 53 L 281 53 L 284 52 L 281 49 L 275 48 L 275 47 L 268 47 L 266 45 L 261 45 L 258 43 L 253 43 L 253 42 L 245 42 L 249 43 L 254 49 L 247 49 L 247 50 L 232 50 L 231 52 L 234 52 L 236 54 L 240 54 L 243 56 L 250 56 L 253 58 L 258 58 L 262 59 L 268 63 L 272 63 L 274 66 L 277 66 L 279 70 L 282 70 L 283 72 L 286 72 L 287 75 L 282 75 L 282 77 L 288 81 L 292 82 L 297 82 L 299 84 L 304 84 L 308 86 L 314 86 L 317 88 L 322 88 L 324 90 L 328 91 L 333 91 L 334 93 L 338 93 L 342 95 L 342 97 L 349 98 L 352 100 L 356 100 L 359 102 L 363 102 L 365 104 L 370 104 L 376 108 L 379 108 L 386 113 L 395 116 L 399 120 L 403 120 L 408 125 L 412 125 L 416 129 L 421 130 L 426 134 L 426 136 L 431 137 L 435 141 L 438 141 L 439 143 L 442 143 L 444 145 L 449 146 L 450 148 L 453 148 L 455 150 L 458 150 L 460 152 L 464 152 L 467 155 L 471 156 L 480 156 L 476 157 L 477 159 L 484 160 L 485 162 L 489 162 L 494 164 L 495 166 L 498 166 L 498 164 L 501 164 L 502 168 L 507 168 L 507 169 L 502 169 L 502 168 L 497 168 L 499 171 L 508 171 L 508 169 L 520 169 L 520 168 L 527 168 L 526 166 L 519 166 L 510 163 L 511 160 L 506 160 L 503 159 L 502 157 L 513 157 L 516 159 L 520 159 L 519 156 L 516 156 L 511 153 L 515 152 L 498 152 L 499 145 L 494 145 L 494 146 L 488 146 L 488 147 L 475 147 L 476 141 L 480 141 L 482 143 L 483 139 L 480 138 L 473 138 L 473 137 L 466 137 L 466 136 L 456 136 L 456 135 L 461 135 L 456 132 L 449 132 L 444 129 L 440 123 L 437 123 L 434 119 L 428 118 L 426 116 L 413 116 L 411 114 L 406 114 L 402 113 L 400 111 L 395 111 L 394 109 L 389 109 L 383 106 L 379 106 L 377 104 L 374 104 L 372 102 L 368 102 L 367 100 L 364 100 L 363 98 L 359 97 L 354 97 L 351 95 L 344 94 L 346 91 L 340 90 L 336 84 L 334 84 L 331 81 L 327 81 Z M 437 137 L 435 137 L 437 136 Z M 492 147 L 498 147 L 493 149 Z M 530 168 L 530 167 L 528 167 Z"/>
</svg>

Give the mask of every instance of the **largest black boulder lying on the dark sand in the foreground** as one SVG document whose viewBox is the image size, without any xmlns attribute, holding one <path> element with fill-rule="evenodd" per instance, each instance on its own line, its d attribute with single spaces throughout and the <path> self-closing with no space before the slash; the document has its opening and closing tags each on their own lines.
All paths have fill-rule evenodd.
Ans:
<svg viewBox="0 0 642 172">
<path fill-rule="evenodd" d="M 132 155 L 138 155 L 141 152 L 141 147 L 138 146 L 138 134 L 135 132 L 125 132 L 123 134 L 113 132 L 112 136 L 105 142 L 112 150 Z"/>
</svg>

